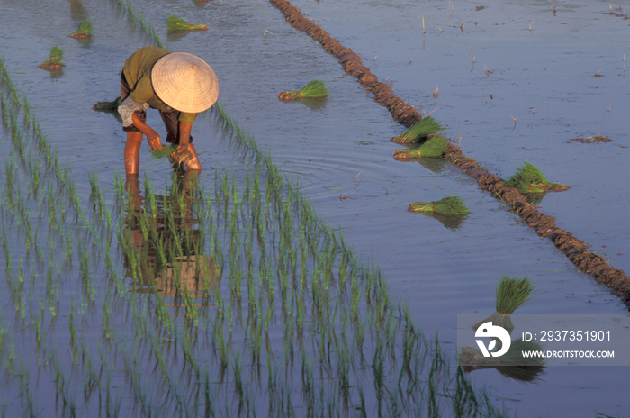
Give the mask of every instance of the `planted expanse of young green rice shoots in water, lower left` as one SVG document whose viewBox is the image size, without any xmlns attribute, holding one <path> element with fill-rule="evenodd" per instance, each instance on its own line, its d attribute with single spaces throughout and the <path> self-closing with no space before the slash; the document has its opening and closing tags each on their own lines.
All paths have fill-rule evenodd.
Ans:
<svg viewBox="0 0 630 418">
<path fill-rule="evenodd" d="M 112 203 L 92 175 L 85 211 L 3 63 L 0 411 L 500 415 L 216 110 L 251 151 L 239 172 L 117 177 Z"/>
</svg>

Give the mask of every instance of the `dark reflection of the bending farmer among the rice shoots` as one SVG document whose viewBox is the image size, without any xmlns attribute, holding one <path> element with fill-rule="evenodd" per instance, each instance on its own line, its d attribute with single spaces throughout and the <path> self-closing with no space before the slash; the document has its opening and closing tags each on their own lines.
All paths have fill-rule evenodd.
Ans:
<svg viewBox="0 0 630 418">
<path fill-rule="evenodd" d="M 136 292 L 156 290 L 162 297 L 172 298 L 173 302 L 166 305 L 175 308 L 184 308 L 183 292 L 197 299 L 204 291 L 214 290 L 220 280 L 220 268 L 202 254 L 202 236 L 194 227 L 199 223 L 191 211 L 196 173 L 198 171 L 188 170 L 183 176 L 175 174 L 180 178 L 173 193 L 154 195 L 156 213 L 144 210 L 145 199 L 140 195 L 137 176 L 127 176 L 125 183 L 128 194 L 123 246 L 126 276 L 133 278 Z"/>
</svg>

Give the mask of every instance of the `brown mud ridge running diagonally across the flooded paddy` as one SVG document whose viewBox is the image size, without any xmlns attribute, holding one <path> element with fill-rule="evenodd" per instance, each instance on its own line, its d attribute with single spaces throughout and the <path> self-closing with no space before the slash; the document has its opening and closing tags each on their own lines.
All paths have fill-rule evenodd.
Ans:
<svg viewBox="0 0 630 418">
<path fill-rule="evenodd" d="M 320 42 L 324 50 L 334 55 L 348 74 L 355 77 L 361 86 L 374 94 L 376 102 L 387 107 L 394 121 L 410 127 L 422 119 L 413 106 L 394 95 L 392 87 L 378 81 L 378 78 L 370 72 L 370 68 L 363 65 L 361 57 L 351 49 L 343 47 L 337 40 L 331 38 L 328 32 L 302 16 L 298 8 L 286 0 L 269 1 L 284 14 L 286 20 L 295 29 L 311 35 L 311 38 Z M 536 230 L 538 235 L 554 242 L 558 250 L 563 251 L 577 268 L 595 277 L 599 283 L 610 287 L 616 295 L 621 296 L 624 304 L 630 307 L 630 280 L 623 270 L 612 268 L 606 259 L 587 250 L 589 245 L 584 241 L 575 238 L 571 232 L 556 227 L 554 216 L 540 213 L 536 207 L 527 203 L 525 196 L 518 193 L 516 188 L 504 186 L 501 178 L 479 167 L 474 159 L 464 157 L 459 147 L 450 144 L 444 159 L 475 178 L 483 190 L 489 191 L 509 205 L 510 211 L 519 214 L 529 226 Z"/>
</svg>

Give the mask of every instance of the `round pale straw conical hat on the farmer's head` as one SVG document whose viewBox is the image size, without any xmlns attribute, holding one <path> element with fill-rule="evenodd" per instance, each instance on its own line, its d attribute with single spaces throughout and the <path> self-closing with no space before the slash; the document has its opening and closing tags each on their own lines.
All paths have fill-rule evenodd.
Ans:
<svg viewBox="0 0 630 418">
<path fill-rule="evenodd" d="M 157 96 L 180 112 L 198 114 L 209 109 L 219 96 L 219 81 L 206 62 L 185 52 L 158 59 L 151 70 Z"/>
</svg>

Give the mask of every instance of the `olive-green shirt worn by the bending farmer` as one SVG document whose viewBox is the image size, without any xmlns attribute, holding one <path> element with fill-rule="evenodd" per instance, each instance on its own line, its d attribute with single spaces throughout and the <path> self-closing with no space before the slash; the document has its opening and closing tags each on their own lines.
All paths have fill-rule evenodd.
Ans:
<svg viewBox="0 0 630 418">
<path fill-rule="evenodd" d="M 151 83 L 151 70 L 157 59 L 164 57 L 169 52 L 157 47 L 145 47 L 137 50 L 130 58 L 125 59 L 122 72 L 127 78 L 127 83 L 131 88 L 130 98 L 137 104 L 147 103 L 149 106 L 168 112 L 171 108 L 157 96 Z M 194 123 L 197 114 L 182 112 L 179 121 Z"/>
</svg>

